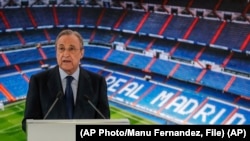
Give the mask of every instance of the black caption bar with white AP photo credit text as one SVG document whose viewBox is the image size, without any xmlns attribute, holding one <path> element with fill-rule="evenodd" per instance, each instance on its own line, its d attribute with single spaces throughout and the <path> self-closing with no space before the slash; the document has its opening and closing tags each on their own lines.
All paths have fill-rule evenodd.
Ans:
<svg viewBox="0 0 250 141">
<path fill-rule="evenodd" d="M 98 137 L 101 137 L 99 139 L 163 137 L 249 141 L 249 132 L 249 125 L 76 125 L 76 141 L 93 140 Z"/>
</svg>

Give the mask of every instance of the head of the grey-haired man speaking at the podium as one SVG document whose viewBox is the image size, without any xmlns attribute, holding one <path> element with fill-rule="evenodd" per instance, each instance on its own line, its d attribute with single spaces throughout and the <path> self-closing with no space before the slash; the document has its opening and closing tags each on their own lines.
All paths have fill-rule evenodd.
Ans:
<svg viewBox="0 0 250 141">
<path fill-rule="evenodd" d="M 69 75 L 74 73 L 84 56 L 81 34 L 70 29 L 63 30 L 58 34 L 55 46 L 59 67 Z"/>
</svg>

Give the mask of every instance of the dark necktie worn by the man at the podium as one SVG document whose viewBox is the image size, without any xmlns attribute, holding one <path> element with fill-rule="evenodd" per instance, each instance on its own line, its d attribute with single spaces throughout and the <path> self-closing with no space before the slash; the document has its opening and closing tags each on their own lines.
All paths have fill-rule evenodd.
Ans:
<svg viewBox="0 0 250 141">
<path fill-rule="evenodd" d="M 73 97 L 71 82 L 74 78 L 72 76 L 67 76 L 66 79 L 67 79 L 66 90 L 65 90 L 66 104 L 67 104 L 66 106 L 69 119 L 72 119 L 74 110 L 74 97 Z"/>
</svg>

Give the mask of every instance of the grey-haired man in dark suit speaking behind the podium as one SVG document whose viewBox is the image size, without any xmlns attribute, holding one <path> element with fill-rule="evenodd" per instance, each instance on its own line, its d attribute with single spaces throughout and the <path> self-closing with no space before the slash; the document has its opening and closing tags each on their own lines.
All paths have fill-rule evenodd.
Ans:
<svg viewBox="0 0 250 141">
<path fill-rule="evenodd" d="M 84 56 L 82 36 L 70 29 L 63 30 L 56 38 L 55 49 L 57 65 L 30 78 L 22 120 L 23 130 L 26 132 L 26 119 L 109 119 L 105 78 L 80 66 Z M 67 84 L 66 76 L 72 76 L 73 80 L 69 82 L 71 87 Z M 68 91 L 73 94 L 71 110 L 68 110 L 71 107 L 69 105 L 72 105 L 67 102 Z M 58 93 L 62 93 L 62 96 L 58 97 Z M 48 112 L 57 98 L 53 109 Z"/>
</svg>

